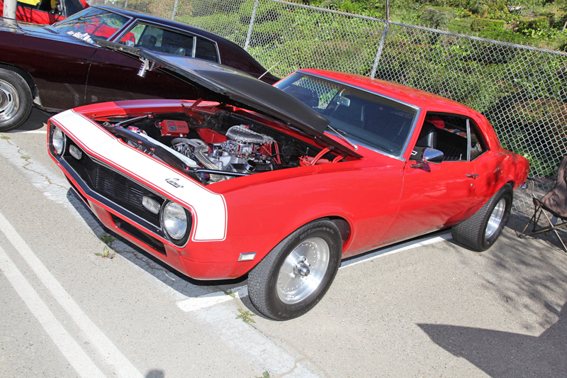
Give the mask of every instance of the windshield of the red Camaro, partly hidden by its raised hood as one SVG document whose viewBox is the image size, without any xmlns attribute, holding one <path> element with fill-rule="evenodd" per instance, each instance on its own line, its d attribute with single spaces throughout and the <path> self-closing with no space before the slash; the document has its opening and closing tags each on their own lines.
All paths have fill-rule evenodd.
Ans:
<svg viewBox="0 0 567 378">
<path fill-rule="evenodd" d="M 419 109 L 346 84 L 296 73 L 276 84 L 318 111 L 352 143 L 401 156 Z"/>
</svg>

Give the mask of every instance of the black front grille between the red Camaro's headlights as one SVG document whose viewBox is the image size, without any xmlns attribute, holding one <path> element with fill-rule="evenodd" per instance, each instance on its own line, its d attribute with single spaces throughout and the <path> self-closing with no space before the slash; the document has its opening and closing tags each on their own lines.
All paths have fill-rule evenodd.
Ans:
<svg viewBox="0 0 567 378">
<path fill-rule="evenodd" d="M 65 157 L 69 165 L 76 170 L 77 174 L 93 191 L 122 206 L 124 209 L 135 213 L 153 225 L 160 227 L 159 216 L 148 211 L 142 205 L 143 196 L 149 196 L 162 205 L 164 199 L 160 196 L 137 184 L 132 179 L 106 167 L 106 165 L 92 160 L 84 152 L 82 159 L 79 161 L 72 157 Z"/>
</svg>

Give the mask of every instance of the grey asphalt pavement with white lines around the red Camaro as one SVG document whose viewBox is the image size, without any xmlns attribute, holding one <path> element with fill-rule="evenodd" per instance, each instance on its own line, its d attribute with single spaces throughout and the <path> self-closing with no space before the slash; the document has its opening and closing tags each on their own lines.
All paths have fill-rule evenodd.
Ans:
<svg viewBox="0 0 567 378">
<path fill-rule="evenodd" d="M 120 239 L 103 257 L 48 116 L 0 133 L 0 377 L 567 377 L 567 255 L 517 238 L 529 215 L 483 253 L 442 231 L 345 261 L 312 311 L 271 321 L 246 277 L 182 277 Z"/>
</svg>

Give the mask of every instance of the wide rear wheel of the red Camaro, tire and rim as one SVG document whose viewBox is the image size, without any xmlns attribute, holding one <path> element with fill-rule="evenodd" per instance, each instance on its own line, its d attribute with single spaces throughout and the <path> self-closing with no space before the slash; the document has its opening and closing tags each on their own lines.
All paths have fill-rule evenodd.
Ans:
<svg viewBox="0 0 567 378">
<path fill-rule="evenodd" d="M 453 239 L 471 250 L 488 250 L 508 223 L 513 196 L 512 185 L 505 184 L 471 218 L 453 226 Z"/>
</svg>

